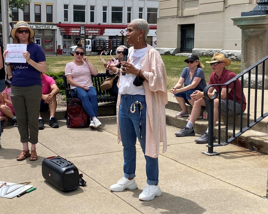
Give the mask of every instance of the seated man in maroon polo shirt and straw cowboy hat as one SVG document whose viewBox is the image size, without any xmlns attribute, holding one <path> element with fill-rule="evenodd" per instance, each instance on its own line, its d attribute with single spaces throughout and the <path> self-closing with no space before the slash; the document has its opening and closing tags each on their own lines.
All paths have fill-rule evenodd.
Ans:
<svg viewBox="0 0 268 214">
<path fill-rule="evenodd" d="M 212 74 L 210 75 L 210 79 L 208 84 L 223 84 L 228 82 L 230 79 L 236 76 L 236 74 L 232 71 L 229 71 L 225 68 L 225 66 L 231 64 L 231 60 L 228 58 L 225 58 L 223 54 L 214 54 L 211 61 L 206 61 L 206 63 L 210 63 Z M 229 89 L 227 92 L 226 86 L 223 86 L 221 89 L 221 114 L 226 114 L 226 95 L 228 93 L 228 114 L 232 114 L 235 111 L 235 114 L 240 114 L 240 110 L 242 108 L 243 112 L 246 109 L 246 98 L 243 93 L 243 101 L 241 103 L 241 82 L 239 79 L 236 80 L 236 91 L 234 92 L 234 82 L 229 84 Z M 216 89 L 217 92 L 219 92 L 219 87 L 215 86 L 210 87 L 208 90 L 208 95 L 212 97 L 214 95 L 213 90 Z M 235 93 L 235 109 L 234 109 L 234 93 Z M 187 125 L 182 128 L 182 130 L 175 133 L 178 137 L 184 137 L 184 136 L 193 136 L 195 135 L 195 131 L 193 129 L 193 125 L 197 118 L 199 117 L 201 113 L 202 107 L 208 106 L 208 100 L 204 98 L 204 93 L 201 91 L 195 91 L 191 94 L 191 98 L 195 100 L 194 106 L 192 108 L 192 114 L 190 117 L 189 122 Z M 203 98 L 203 99 L 201 99 Z M 218 119 L 219 114 L 219 99 L 216 98 L 214 100 L 214 121 L 213 121 L 213 127 L 216 125 L 216 121 Z M 215 142 L 215 136 L 213 138 L 213 141 Z M 208 128 L 206 132 L 198 139 L 195 139 L 196 143 L 208 143 Z"/>
</svg>

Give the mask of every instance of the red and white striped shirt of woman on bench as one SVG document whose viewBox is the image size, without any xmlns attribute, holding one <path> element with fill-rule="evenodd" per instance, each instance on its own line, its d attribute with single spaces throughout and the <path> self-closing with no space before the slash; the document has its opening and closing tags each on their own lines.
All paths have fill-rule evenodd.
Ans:
<svg viewBox="0 0 268 214">
<path fill-rule="evenodd" d="M 86 62 L 83 65 L 76 65 L 73 62 L 69 62 L 65 66 L 65 75 L 72 75 L 72 79 L 80 85 L 93 86 L 91 79 L 91 71 Z M 71 88 L 76 86 L 70 85 Z"/>
</svg>

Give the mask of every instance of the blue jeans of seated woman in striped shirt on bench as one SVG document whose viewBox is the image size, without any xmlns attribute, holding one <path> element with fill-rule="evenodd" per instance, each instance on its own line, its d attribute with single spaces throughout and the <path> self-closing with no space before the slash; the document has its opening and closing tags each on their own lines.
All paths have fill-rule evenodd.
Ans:
<svg viewBox="0 0 268 214">
<path fill-rule="evenodd" d="M 79 87 L 76 87 L 75 89 L 77 91 L 77 98 L 82 101 L 86 114 L 88 114 L 91 119 L 97 117 L 98 100 L 96 89 L 93 86 L 89 87 L 89 90 L 87 91 Z M 74 91 L 71 91 L 71 95 L 75 95 Z"/>
</svg>

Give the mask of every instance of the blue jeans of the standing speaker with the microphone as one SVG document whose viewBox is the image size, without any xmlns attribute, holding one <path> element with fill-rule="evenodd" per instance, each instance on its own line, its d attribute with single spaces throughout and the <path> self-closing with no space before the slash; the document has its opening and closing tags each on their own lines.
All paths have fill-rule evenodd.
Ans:
<svg viewBox="0 0 268 214">
<path fill-rule="evenodd" d="M 134 101 L 142 103 L 143 109 L 141 111 L 141 133 L 139 132 L 139 105 L 136 105 L 136 112 L 130 112 L 130 106 Z M 133 111 L 133 107 L 132 107 Z M 146 138 L 146 101 L 144 95 L 128 95 L 121 96 L 121 103 L 119 107 L 119 128 L 123 144 L 124 156 L 124 177 L 136 177 L 136 140 L 137 137 L 140 142 L 143 153 L 145 154 L 145 138 Z M 146 175 L 147 184 L 154 185 L 158 183 L 158 158 L 152 158 L 144 155 L 146 160 Z"/>
</svg>

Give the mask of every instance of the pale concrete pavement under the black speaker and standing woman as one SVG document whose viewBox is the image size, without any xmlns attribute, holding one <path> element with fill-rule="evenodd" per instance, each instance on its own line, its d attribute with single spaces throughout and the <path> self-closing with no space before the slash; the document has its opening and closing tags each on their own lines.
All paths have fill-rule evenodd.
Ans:
<svg viewBox="0 0 268 214">
<path fill-rule="evenodd" d="M 122 144 L 117 143 L 116 118 L 99 118 L 97 129 L 70 129 L 45 124 L 39 132 L 37 161 L 16 161 L 22 144 L 17 128 L 7 126 L 1 136 L 0 180 L 31 181 L 37 190 L 20 198 L 0 198 L 0 213 L 258 213 L 265 214 L 268 156 L 233 145 L 218 147 L 218 156 L 206 156 L 205 145 L 193 137 L 175 137 L 178 128 L 167 126 L 168 151 L 159 156 L 161 197 L 139 201 L 146 184 L 145 160 L 137 145 L 138 189 L 111 192 L 122 177 Z M 64 193 L 41 174 L 45 157 L 62 156 L 83 173 L 85 187 Z"/>
</svg>

